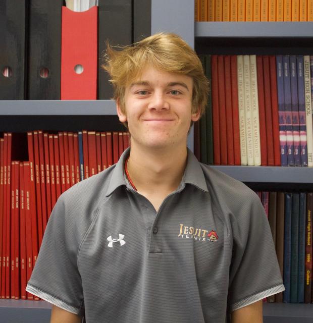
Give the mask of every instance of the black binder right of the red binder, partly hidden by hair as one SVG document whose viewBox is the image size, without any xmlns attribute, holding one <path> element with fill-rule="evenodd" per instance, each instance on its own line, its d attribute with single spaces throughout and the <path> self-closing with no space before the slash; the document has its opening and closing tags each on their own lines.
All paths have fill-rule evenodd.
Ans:
<svg viewBox="0 0 313 323">
<path fill-rule="evenodd" d="M 101 68 L 106 41 L 112 45 L 133 42 L 132 0 L 99 0 L 98 8 L 98 99 L 111 99 L 113 88 L 109 75 Z"/>
</svg>

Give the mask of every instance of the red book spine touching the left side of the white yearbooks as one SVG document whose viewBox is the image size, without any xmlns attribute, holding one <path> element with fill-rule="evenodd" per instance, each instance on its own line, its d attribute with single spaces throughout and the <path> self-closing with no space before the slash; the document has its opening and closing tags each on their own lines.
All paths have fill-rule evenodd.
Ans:
<svg viewBox="0 0 313 323">
<path fill-rule="evenodd" d="M 239 132 L 239 107 L 238 107 L 238 79 L 237 79 L 237 56 L 231 55 L 231 87 L 232 87 L 232 108 L 233 108 L 233 138 L 234 138 L 234 163 L 241 165 L 240 157 L 240 132 Z"/>
</svg>

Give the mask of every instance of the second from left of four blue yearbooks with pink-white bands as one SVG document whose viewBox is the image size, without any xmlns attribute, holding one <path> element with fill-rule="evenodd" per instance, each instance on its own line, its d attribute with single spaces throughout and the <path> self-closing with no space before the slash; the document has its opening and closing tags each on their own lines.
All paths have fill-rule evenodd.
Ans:
<svg viewBox="0 0 313 323">
<path fill-rule="evenodd" d="M 286 116 L 286 137 L 287 137 L 287 161 L 288 161 L 288 166 L 294 166 L 289 55 L 283 56 L 283 70 L 284 70 L 284 100 L 285 100 L 285 116 Z"/>
</svg>

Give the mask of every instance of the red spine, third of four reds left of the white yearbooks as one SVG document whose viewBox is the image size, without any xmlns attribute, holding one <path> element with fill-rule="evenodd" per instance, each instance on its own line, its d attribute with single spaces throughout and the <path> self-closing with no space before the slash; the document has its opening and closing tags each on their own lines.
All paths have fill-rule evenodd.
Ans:
<svg viewBox="0 0 313 323">
<path fill-rule="evenodd" d="M 233 108 L 232 108 L 232 86 L 230 56 L 224 56 L 224 79 L 225 79 L 225 105 L 226 105 L 226 138 L 227 138 L 227 164 L 235 165 L 234 161 L 234 130 L 233 130 Z"/>
</svg>

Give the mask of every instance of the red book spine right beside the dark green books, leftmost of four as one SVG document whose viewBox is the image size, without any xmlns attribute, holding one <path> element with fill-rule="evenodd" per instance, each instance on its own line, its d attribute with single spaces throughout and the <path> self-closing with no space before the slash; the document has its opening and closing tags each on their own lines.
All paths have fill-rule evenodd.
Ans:
<svg viewBox="0 0 313 323">
<path fill-rule="evenodd" d="M 212 124 L 213 124 L 214 165 L 221 165 L 219 78 L 218 78 L 217 55 L 212 55 L 211 57 L 211 69 L 212 69 Z"/>
</svg>

